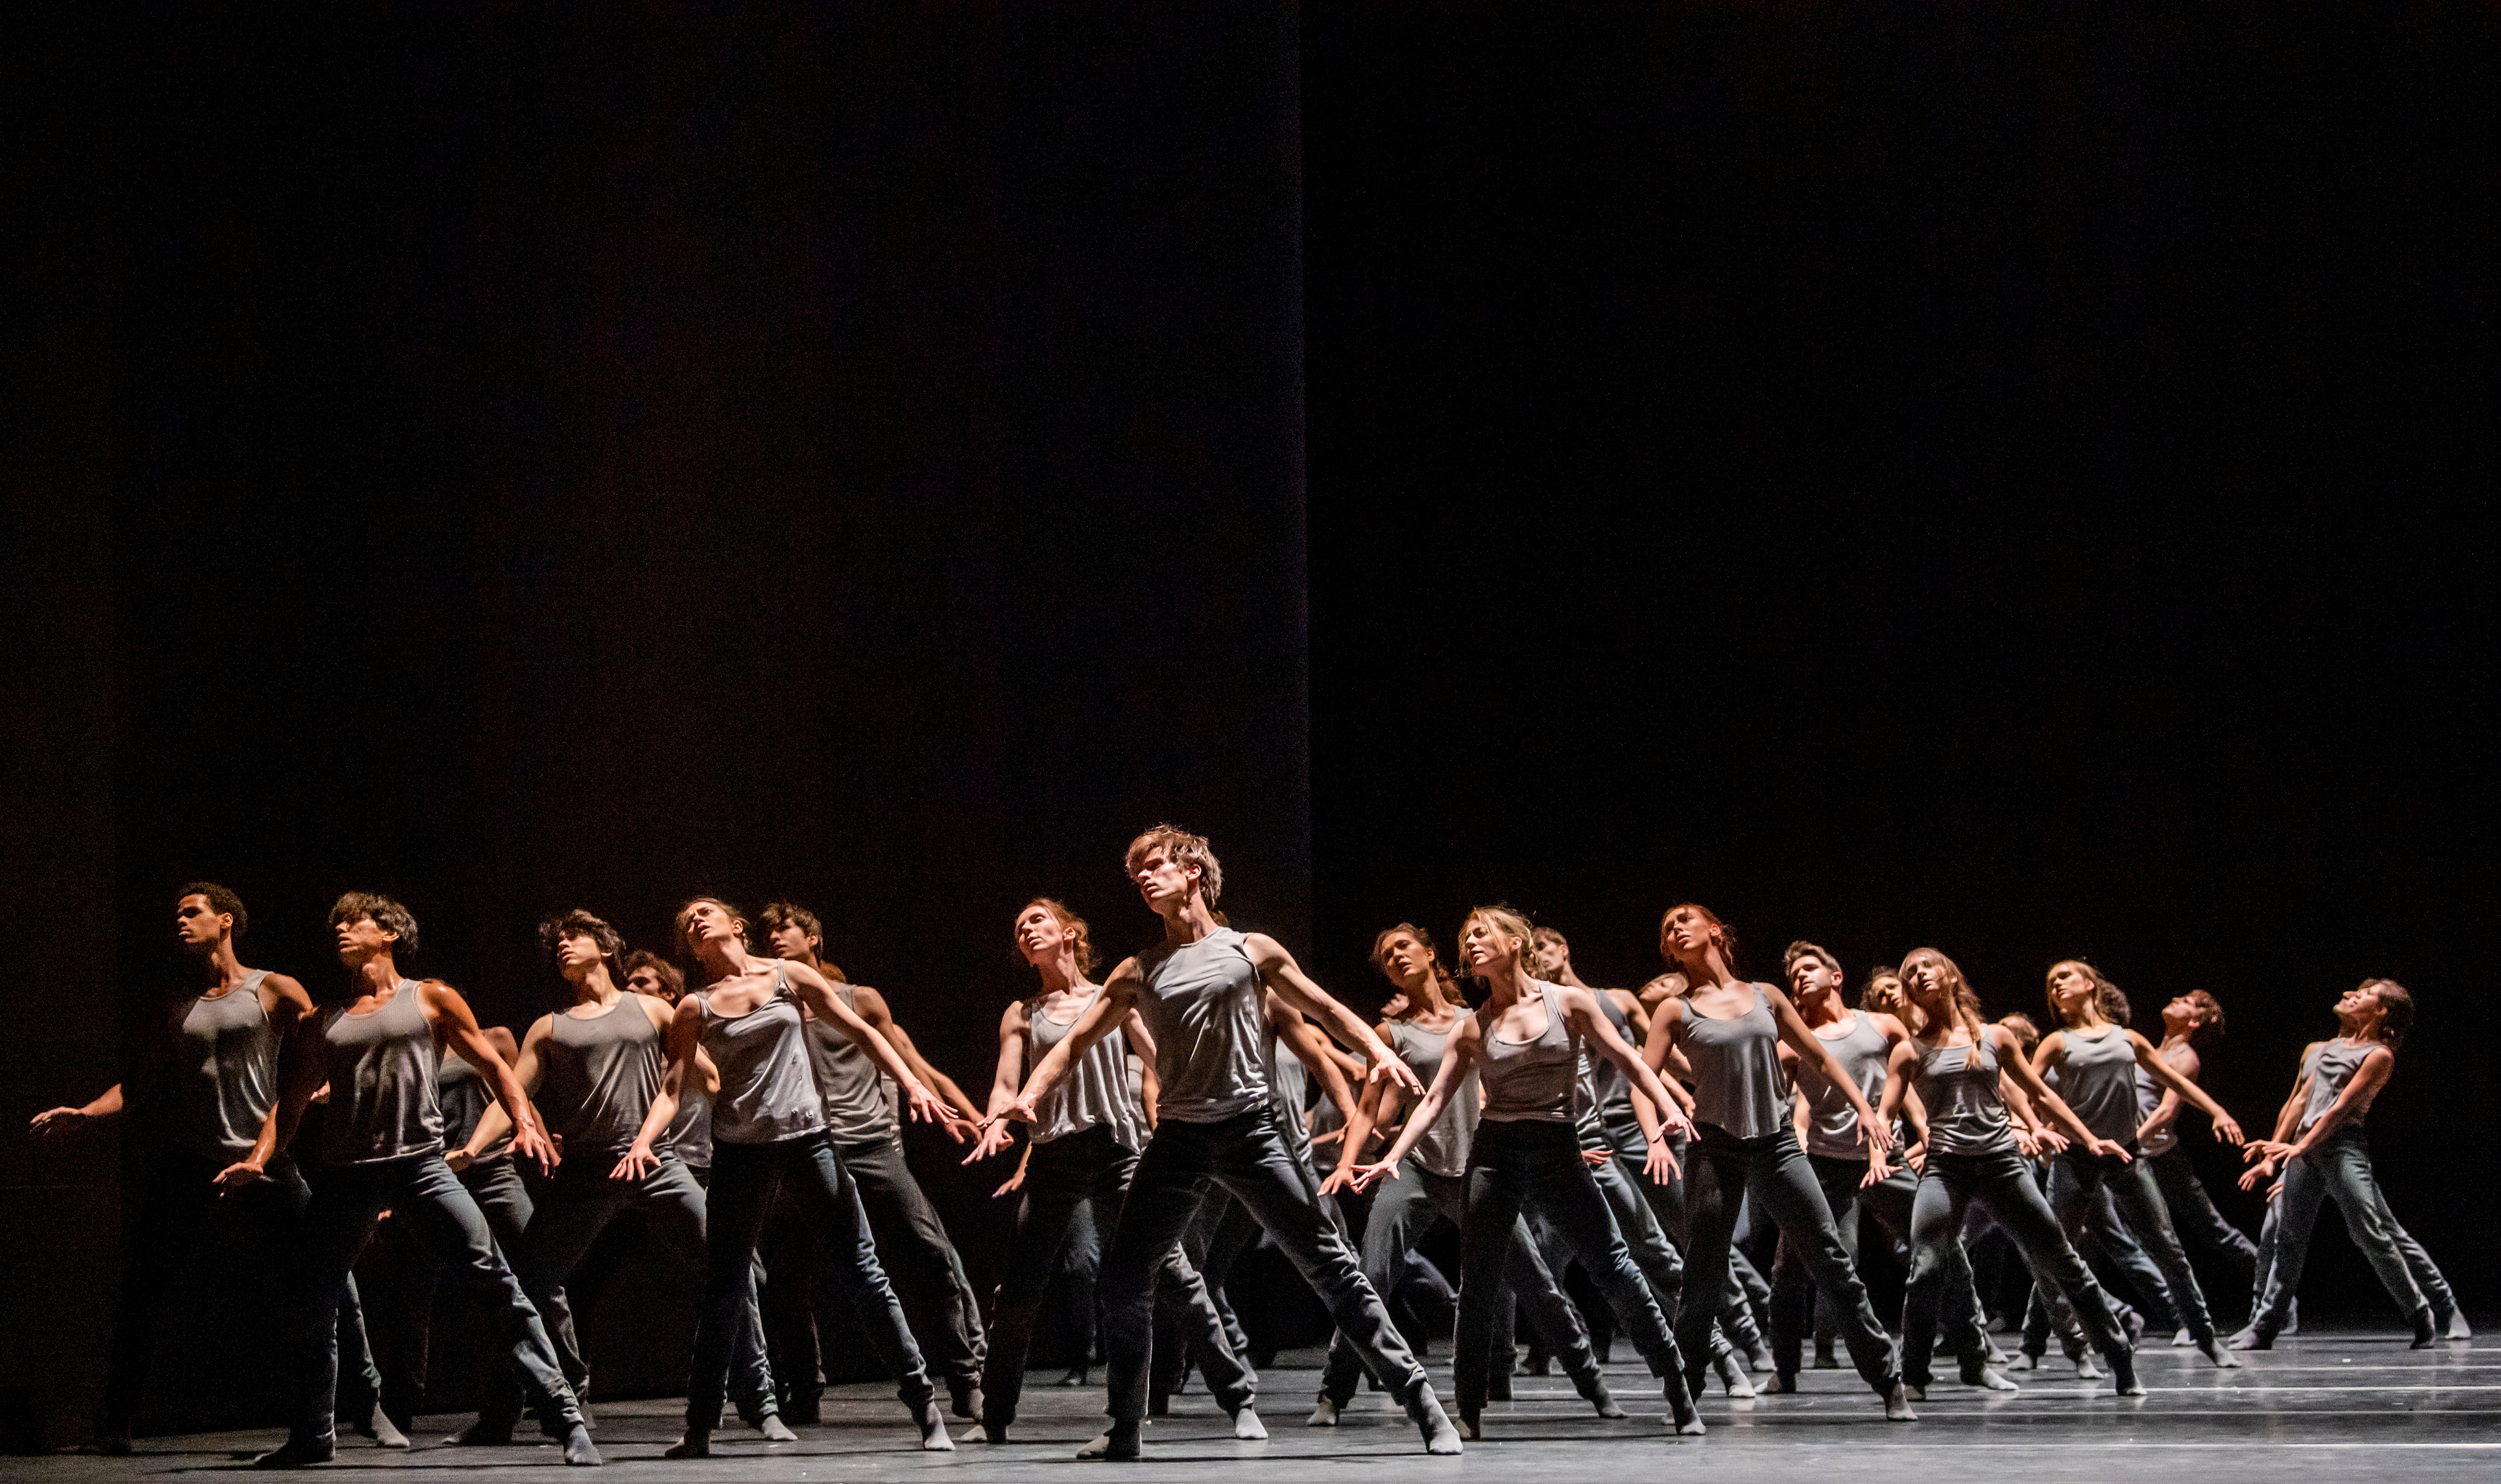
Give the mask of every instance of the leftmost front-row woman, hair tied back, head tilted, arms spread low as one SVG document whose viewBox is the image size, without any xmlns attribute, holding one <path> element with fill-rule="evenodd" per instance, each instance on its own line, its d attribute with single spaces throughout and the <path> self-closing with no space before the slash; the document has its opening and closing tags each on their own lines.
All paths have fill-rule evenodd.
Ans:
<svg viewBox="0 0 2501 1484">
<path fill-rule="evenodd" d="M 818 1221 L 833 1251 L 850 1261 L 828 1269 L 843 1284 L 853 1314 L 878 1346 L 885 1369 L 900 1381 L 903 1404 L 920 1426 L 920 1446 L 953 1451 L 935 1389 L 920 1366 L 920 1346 L 903 1321 L 868 1219 L 850 1189 L 850 1174 L 825 1139 L 825 1099 L 808 1071 L 808 1031 L 798 1016 L 805 1004 L 843 1026 L 878 1064 L 913 1119 L 950 1124 L 945 1104 L 930 1094 L 895 1049 L 868 1021 L 855 1016 L 823 973 L 805 963 L 755 958 L 748 948 L 748 923 L 718 896 L 698 896 L 678 908 L 678 943 L 703 971 L 703 988 L 678 1001 L 668 1021 L 668 1069 L 643 1116 L 628 1159 L 618 1171 L 630 1179 L 648 1174 L 653 1144 L 678 1116 L 678 1089 L 693 1076 L 695 1054 L 710 1054 L 720 1069 L 720 1094 L 713 1099 L 713 1189 L 705 1231 L 703 1319 L 695 1324 L 695 1366 L 685 1381 L 685 1439 L 670 1459 L 708 1459 L 713 1426 L 720 1421 L 720 1391 L 730 1351 L 748 1324 L 755 1296 L 755 1234 L 763 1229 L 773 1189 L 790 1189 Z M 958 1134 L 960 1136 L 960 1134 Z"/>
</svg>

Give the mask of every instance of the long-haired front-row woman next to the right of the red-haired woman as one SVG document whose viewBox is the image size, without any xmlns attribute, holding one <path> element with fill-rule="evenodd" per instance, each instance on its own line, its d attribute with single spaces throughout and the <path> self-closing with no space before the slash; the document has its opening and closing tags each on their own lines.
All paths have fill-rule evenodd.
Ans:
<svg viewBox="0 0 2501 1484">
<path fill-rule="evenodd" d="M 1928 1384 L 1946 1251 L 1963 1229 L 1966 1206 L 1978 1201 L 2023 1251 L 2033 1276 L 2053 1284 L 2073 1306 L 2111 1361 L 2118 1394 L 2143 1396 L 2146 1389 L 2136 1384 L 2136 1354 L 2111 1314 L 2108 1296 L 2058 1229 L 2026 1164 L 2036 1139 L 2033 1109 L 2048 1109 L 2091 1154 L 2123 1159 L 2126 1149 L 2093 1134 L 2058 1094 L 2048 1091 L 2041 1074 L 2023 1061 L 2013 1031 L 1981 1021 L 1978 996 L 1951 958 L 1936 948 L 1916 948 L 1901 961 L 1901 976 L 1923 1029 L 1893 1046 L 1878 1119 L 1901 1114 L 1913 1084 L 1928 1106 L 1928 1156 L 1918 1171 L 1918 1199 L 1911 1201 L 1911 1281 L 1901 1319 L 1903 1376 L 1911 1386 Z M 2006 1119 L 2006 1089 L 2016 1094 L 2021 1134 Z M 1868 1156 L 1868 1169 L 1883 1179 L 1881 1151 Z"/>
</svg>

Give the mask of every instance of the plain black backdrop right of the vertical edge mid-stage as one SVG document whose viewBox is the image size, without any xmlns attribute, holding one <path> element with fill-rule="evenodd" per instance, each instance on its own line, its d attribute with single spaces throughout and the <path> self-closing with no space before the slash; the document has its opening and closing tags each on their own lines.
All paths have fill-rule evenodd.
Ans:
<svg viewBox="0 0 2501 1484">
<path fill-rule="evenodd" d="M 1686 898 L 1756 976 L 1933 943 L 1996 1014 L 2088 956 L 2141 1026 L 2223 999 L 2251 1129 L 2396 976 L 2381 1171 L 2501 1296 L 2493 33 L 1308 18 L 1323 968 L 1493 898 L 1593 983 Z M 2306 1306 L 2388 1316 L 2326 1246 Z"/>
</svg>

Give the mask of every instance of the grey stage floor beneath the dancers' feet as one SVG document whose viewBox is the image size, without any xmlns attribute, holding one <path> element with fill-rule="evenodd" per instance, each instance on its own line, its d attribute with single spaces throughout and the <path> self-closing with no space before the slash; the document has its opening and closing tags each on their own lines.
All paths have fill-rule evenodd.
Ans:
<svg viewBox="0 0 2501 1484">
<path fill-rule="evenodd" d="M 1663 1404 L 1638 1366 L 1611 1366 L 1611 1384 L 1631 1421 L 1601 1421 L 1561 1379 L 1523 1376 L 1518 1401 L 1496 1404 L 1486 1441 L 1463 1459 L 1426 1459 L 1416 1431 L 1388 1399 L 1366 1394 L 1338 1429 L 1308 1429 L 1311 1351 L 1288 1351 L 1261 1376 L 1266 1444 L 1238 1444 L 1200 1391 L 1173 1404 L 1173 1416 L 1148 1429 L 1148 1459 L 1118 1469 L 1120 1479 L 1633 1479 L 1693 1474 L 1726 1481 L 1796 1484 L 1846 1476 L 1851 1484 L 1891 1479 L 2021 1476 L 2026 1481 L 2178 1476 L 2196 1484 L 2233 1479 L 2501 1479 L 2501 1354 L 2471 1344 L 2408 1351 L 2393 1331 L 2306 1334 L 2271 1354 L 2248 1356 L 2241 1371 L 2216 1371 L 2196 1351 L 2148 1346 L 2143 1379 L 2151 1396 L 2121 1401 L 2108 1381 L 2083 1384 L 2056 1366 L 2023 1376 L 2016 1396 L 1938 1386 L 1918 1424 L 1886 1424 L 1873 1396 L 1851 1371 L 1811 1371 L 1798 1396 L 1703 1404 L 1711 1434 L 1671 1439 Z M 1448 1391 L 1446 1356 L 1436 1354 L 1436 1386 Z M 598 1406 L 608 1471 L 648 1484 L 763 1479 L 1060 1479 L 1100 1464 L 1075 1464 L 1073 1449 L 1100 1429 L 1103 1391 L 1058 1389 L 1035 1371 L 1025 1416 L 1010 1446 L 965 1444 L 953 1454 L 920 1454 L 893 1394 L 840 1386 L 825 1396 L 825 1424 L 800 1429 L 795 1444 L 763 1444 L 730 1429 L 720 1456 L 703 1464 L 660 1459 L 678 1434 L 670 1401 Z M 1098 1374 L 1100 1379 L 1100 1374 Z M 418 1449 L 385 1454 L 355 1439 L 325 1471 L 388 1469 L 393 1484 L 488 1484 L 548 1479 L 558 1469 L 545 1446 L 448 1449 L 440 1439 L 460 1416 L 420 1419 Z M 965 1424 L 958 1431 L 970 1431 Z M 170 1479 L 233 1471 L 275 1431 L 143 1439 L 130 1459 L 5 1459 L 0 1479 L 85 1484 L 100 1479 Z"/>
</svg>

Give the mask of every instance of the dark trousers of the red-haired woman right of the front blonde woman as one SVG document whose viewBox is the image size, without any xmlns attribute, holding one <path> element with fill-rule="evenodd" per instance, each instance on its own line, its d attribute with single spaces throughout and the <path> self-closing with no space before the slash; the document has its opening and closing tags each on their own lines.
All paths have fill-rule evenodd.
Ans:
<svg viewBox="0 0 2501 1484">
<path fill-rule="evenodd" d="M 1686 1304 L 1676 1316 L 1676 1341 L 1686 1354 L 1686 1381 L 1701 1391 L 1701 1366 L 1708 1359 L 1711 1324 L 1718 1319 L 1728 1291 L 1728 1251 L 1736 1231 L 1738 1201 L 1753 1196 L 1758 1216 L 1768 1216 L 1781 1229 L 1781 1239 L 1796 1249 L 1808 1276 L 1833 1301 L 1833 1316 L 1858 1376 L 1891 1391 L 1901 1379 L 1893 1361 L 1893 1336 L 1876 1321 L 1866 1284 L 1851 1266 L 1851 1254 L 1833 1229 L 1833 1209 L 1823 1204 L 1798 1134 L 1781 1129 L 1761 1139 L 1736 1139 L 1723 1129 L 1703 1124 L 1701 1139 L 1691 1146 L 1686 1166 L 1686 1211 L 1693 1221 L 1693 1244 L 1686 1249 Z"/>
</svg>

